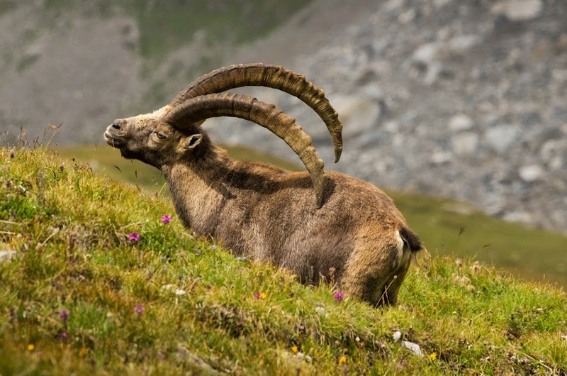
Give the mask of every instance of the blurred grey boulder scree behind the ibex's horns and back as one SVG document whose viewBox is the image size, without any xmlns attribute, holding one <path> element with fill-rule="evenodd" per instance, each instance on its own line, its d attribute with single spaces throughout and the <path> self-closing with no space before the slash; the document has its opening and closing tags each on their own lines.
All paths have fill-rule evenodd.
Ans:
<svg viewBox="0 0 567 376">
<path fill-rule="evenodd" d="M 310 109 L 255 93 L 305 125 L 327 169 L 567 230 L 566 1 L 376 1 L 290 65 L 339 111 L 337 165 Z M 223 142 L 289 155 L 259 127 L 222 122 L 209 128 Z"/>
</svg>

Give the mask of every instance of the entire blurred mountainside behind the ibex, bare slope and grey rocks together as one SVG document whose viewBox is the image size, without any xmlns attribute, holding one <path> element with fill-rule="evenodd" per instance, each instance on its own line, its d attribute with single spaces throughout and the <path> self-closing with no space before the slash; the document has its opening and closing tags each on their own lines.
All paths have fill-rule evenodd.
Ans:
<svg viewBox="0 0 567 376">
<path fill-rule="evenodd" d="M 35 137 L 63 123 L 57 143 L 101 143 L 114 118 L 157 109 L 208 70 L 281 64 L 339 111 L 337 165 L 304 104 L 245 92 L 296 116 L 327 170 L 567 230 L 565 1 L 80 4 L 0 0 L 3 130 Z M 219 118 L 206 128 L 218 142 L 294 157 L 249 123 Z"/>
</svg>

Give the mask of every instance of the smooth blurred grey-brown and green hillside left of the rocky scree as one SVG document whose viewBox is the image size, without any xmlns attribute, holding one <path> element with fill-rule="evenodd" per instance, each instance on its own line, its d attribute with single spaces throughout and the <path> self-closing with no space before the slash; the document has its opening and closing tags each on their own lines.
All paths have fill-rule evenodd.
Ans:
<svg viewBox="0 0 567 376">
<path fill-rule="evenodd" d="M 147 112 L 239 43 L 309 1 L 0 0 L 0 121 L 60 143 L 100 142 L 118 116 Z"/>
</svg>

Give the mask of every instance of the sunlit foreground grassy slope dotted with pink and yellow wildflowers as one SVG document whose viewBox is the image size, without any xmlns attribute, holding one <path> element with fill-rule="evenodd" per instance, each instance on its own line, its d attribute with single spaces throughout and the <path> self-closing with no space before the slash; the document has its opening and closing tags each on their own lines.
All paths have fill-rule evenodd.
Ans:
<svg viewBox="0 0 567 376">
<path fill-rule="evenodd" d="M 549 285 L 432 258 L 397 308 L 336 302 L 48 150 L 0 149 L 0 183 L 0 245 L 17 252 L 0 262 L 1 375 L 567 372 L 567 297 Z"/>
</svg>

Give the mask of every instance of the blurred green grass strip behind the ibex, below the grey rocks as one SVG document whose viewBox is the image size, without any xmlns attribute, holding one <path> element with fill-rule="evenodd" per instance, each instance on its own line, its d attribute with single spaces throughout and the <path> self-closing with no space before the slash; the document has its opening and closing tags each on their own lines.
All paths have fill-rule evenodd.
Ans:
<svg viewBox="0 0 567 376">
<path fill-rule="evenodd" d="M 289 170 L 301 170 L 293 163 L 249 148 L 227 149 L 236 159 L 261 160 Z M 88 162 L 103 175 L 135 184 L 143 192 L 167 194 L 158 170 L 142 162 L 125 160 L 106 145 L 57 148 L 57 151 L 65 157 Z M 505 268 L 524 280 L 567 287 L 567 236 L 500 221 L 448 199 L 401 192 L 388 194 L 433 255 L 475 258 Z"/>
</svg>

